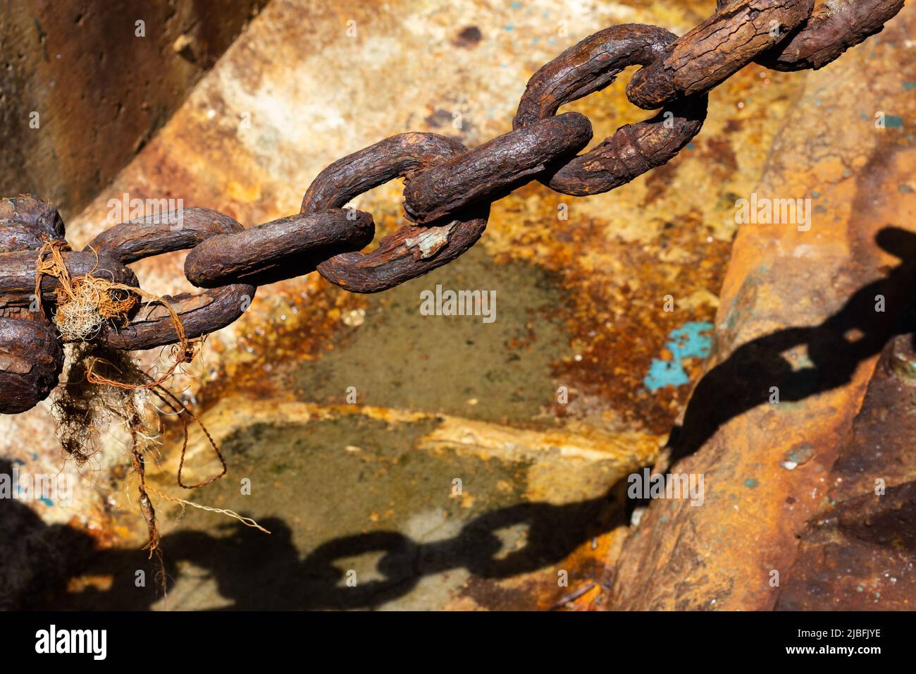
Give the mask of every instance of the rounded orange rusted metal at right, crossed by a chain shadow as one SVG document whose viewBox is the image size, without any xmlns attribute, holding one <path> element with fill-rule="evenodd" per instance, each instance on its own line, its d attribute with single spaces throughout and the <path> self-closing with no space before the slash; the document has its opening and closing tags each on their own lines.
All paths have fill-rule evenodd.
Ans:
<svg viewBox="0 0 916 674">
<path fill-rule="evenodd" d="M 811 227 L 739 229 L 713 355 L 657 465 L 703 473 L 705 501 L 650 504 L 616 565 L 612 607 L 771 609 L 780 598 L 774 571 L 785 579 L 803 558 L 793 573 L 804 585 L 820 572 L 819 550 L 829 555 L 823 540 L 842 545 L 862 535 L 859 525 L 844 533 L 844 518 L 866 522 L 889 508 L 880 515 L 887 527 L 876 529 L 887 533 L 898 525 L 893 508 L 911 507 L 904 489 L 877 504 L 860 496 L 885 459 L 856 449 L 856 461 L 868 464 L 857 478 L 862 501 L 839 508 L 838 537 L 829 524 L 804 533 L 809 522 L 834 516 L 831 471 L 878 354 L 891 337 L 911 332 L 916 153 L 902 128 L 874 122 L 875 111 L 889 108 L 900 118 L 916 114 L 901 85 L 916 79 L 906 51 L 914 20 L 902 11 L 885 29 L 883 48 L 849 52 L 810 75 L 787 116 L 756 192 L 807 195 Z M 850 86 L 860 72 L 875 79 Z M 817 134 L 805 123 L 815 111 L 834 120 Z M 801 553 L 800 536 L 810 543 Z M 874 540 L 868 545 L 878 558 L 886 554 Z M 851 549 L 834 570 L 862 554 Z M 829 574 L 834 562 L 824 565 Z M 785 605 L 802 592 L 793 590 Z"/>
</svg>

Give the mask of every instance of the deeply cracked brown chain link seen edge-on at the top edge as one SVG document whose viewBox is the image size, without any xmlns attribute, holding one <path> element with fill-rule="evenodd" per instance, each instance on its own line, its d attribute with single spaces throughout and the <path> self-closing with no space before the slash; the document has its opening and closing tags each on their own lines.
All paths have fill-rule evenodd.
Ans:
<svg viewBox="0 0 916 674">
<path fill-rule="evenodd" d="M 814 0 L 736 0 L 639 70 L 627 84 L 627 96 L 635 105 L 651 110 L 683 96 L 708 92 L 778 44 L 811 14 L 813 6 Z"/>
</svg>

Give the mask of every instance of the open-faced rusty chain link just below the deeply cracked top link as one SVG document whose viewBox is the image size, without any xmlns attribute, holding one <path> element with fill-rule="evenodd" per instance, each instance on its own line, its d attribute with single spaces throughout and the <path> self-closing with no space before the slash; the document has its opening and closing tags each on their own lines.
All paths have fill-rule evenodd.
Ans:
<svg viewBox="0 0 916 674">
<path fill-rule="evenodd" d="M 604 89 L 630 65 L 649 65 L 677 36 L 656 26 L 626 24 L 599 30 L 535 72 L 518 104 L 514 127 L 556 113 L 561 105 Z M 705 95 L 692 96 L 657 116 L 617 129 L 597 148 L 551 168 L 540 181 L 557 192 L 607 192 L 661 166 L 699 133 Z"/>
</svg>

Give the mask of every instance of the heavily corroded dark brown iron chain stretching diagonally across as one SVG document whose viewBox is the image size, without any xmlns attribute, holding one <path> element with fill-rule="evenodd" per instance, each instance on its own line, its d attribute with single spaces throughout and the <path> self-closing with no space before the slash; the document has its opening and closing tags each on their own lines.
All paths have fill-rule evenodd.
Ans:
<svg viewBox="0 0 916 674">
<path fill-rule="evenodd" d="M 405 133 L 333 162 L 311 183 L 300 213 L 245 229 L 205 208 L 116 225 L 82 251 L 67 250 L 71 277 L 92 272 L 137 287 L 131 262 L 191 249 L 185 275 L 202 293 L 165 298 L 187 337 L 232 323 L 257 285 L 318 271 L 355 293 L 376 293 L 454 260 L 484 232 L 490 204 L 538 180 L 564 194 L 604 193 L 671 160 L 703 126 L 707 93 L 751 61 L 780 71 L 821 68 L 879 32 L 903 0 L 718 0 L 712 17 L 678 38 L 664 28 L 605 28 L 543 66 L 529 80 L 513 130 L 466 149 L 453 138 Z M 627 66 L 639 107 L 660 112 L 620 127 L 584 154 L 592 125 L 564 104 L 601 91 Z M 403 178 L 411 224 L 375 237 L 372 215 L 346 208 L 354 197 Z M 178 223 L 178 224 L 176 224 Z M 60 215 L 31 195 L 0 201 L 0 412 L 23 412 L 57 385 L 63 349 L 56 326 L 36 311 L 53 303 L 57 280 L 36 291 L 38 250 L 63 240 Z M 66 248 L 66 247 L 65 247 Z M 146 306 L 129 325 L 107 325 L 95 340 L 121 349 L 174 343 L 162 306 Z"/>
</svg>

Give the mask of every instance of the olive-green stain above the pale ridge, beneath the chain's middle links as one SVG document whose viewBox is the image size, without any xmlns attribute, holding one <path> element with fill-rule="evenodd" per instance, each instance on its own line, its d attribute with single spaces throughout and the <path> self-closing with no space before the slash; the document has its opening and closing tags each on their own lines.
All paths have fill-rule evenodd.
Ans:
<svg viewBox="0 0 916 674">
<path fill-rule="evenodd" d="M 495 291 L 496 320 L 421 315 L 420 293 Z M 558 283 L 537 267 L 472 249 L 452 264 L 373 295 L 365 323 L 294 375 L 301 399 L 525 422 L 556 399 L 552 367 L 572 355 Z"/>
</svg>

